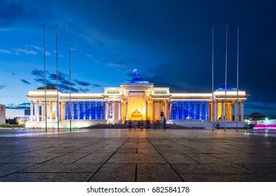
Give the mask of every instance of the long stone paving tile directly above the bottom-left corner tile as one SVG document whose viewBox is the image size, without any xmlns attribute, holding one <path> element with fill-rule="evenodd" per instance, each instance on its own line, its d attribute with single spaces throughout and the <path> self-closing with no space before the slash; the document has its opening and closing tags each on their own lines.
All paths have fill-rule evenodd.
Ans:
<svg viewBox="0 0 276 196">
<path fill-rule="evenodd" d="M 42 163 L 39 165 L 34 165 L 27 169 L 23 169 L 20 172 L 31 172 L 31 173 L 57 173 L 57 172 L 69 172 L 69 173 L 94 173 L 97 169 L 101 167 L 101 164 L 46 164 Z"/>
</svg>

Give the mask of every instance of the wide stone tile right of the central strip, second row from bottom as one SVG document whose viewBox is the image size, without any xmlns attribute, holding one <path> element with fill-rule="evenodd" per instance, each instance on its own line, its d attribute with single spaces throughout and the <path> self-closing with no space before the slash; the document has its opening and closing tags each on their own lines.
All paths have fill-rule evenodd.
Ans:
<svg viewBox="0 0 276 196">
<path fill-rule="evenodd" d="M 240 174 L 240 173 L 254 173 L 237 165 L 205 165 L 205 164 L 172 164 L 171 165 L 177 173 L 185 174 Z"/>
</svg>

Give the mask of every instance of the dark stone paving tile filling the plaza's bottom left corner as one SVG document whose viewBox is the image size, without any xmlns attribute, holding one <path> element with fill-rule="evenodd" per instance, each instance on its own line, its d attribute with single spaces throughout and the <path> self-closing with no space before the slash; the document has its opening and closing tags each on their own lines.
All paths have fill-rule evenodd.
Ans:
<svg viewBox="0 0 276 196">
<path fill-rule="evenodd" d="M 1 182 L 86 182 L 93 173 L 14 173 Z"/>
</svg>

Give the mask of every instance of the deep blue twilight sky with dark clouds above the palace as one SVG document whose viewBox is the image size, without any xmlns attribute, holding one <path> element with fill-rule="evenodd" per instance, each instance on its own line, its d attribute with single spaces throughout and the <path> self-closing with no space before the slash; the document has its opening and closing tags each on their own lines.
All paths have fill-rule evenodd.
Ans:
<svg viewBox="0 0 276 196">
<path fill-rule="evenodd" d="M 215 89 L 224 83 L 228 25 L 228 80 L 236 86 L 240 25 L 240 90 L 250 94 L 245 113 L 276 115 L 276 1 L 274 0 L 0 0 L 0 104 L 7 117 L 22 115 L 29 90 L 44 85 L 43 23 L 48 83 L 68 90 L 69 26 L 73 92 L 138 75 L 170 92 L 212 91 L 212 25 Z"/>
</svg>

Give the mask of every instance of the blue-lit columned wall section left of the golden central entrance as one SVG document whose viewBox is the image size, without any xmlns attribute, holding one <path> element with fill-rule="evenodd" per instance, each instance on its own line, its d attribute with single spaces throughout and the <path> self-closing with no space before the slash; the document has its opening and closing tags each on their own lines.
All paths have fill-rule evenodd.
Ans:
<svg viewBox="0 0 276 196">
<path fill-rule="evenodd" d="M 72 119 L 75 120 L 104 120 L 106 102 L 71 102 Z M 69 102 L 66 102 L 65 120 L 69 116 Z"/>
</svg>

